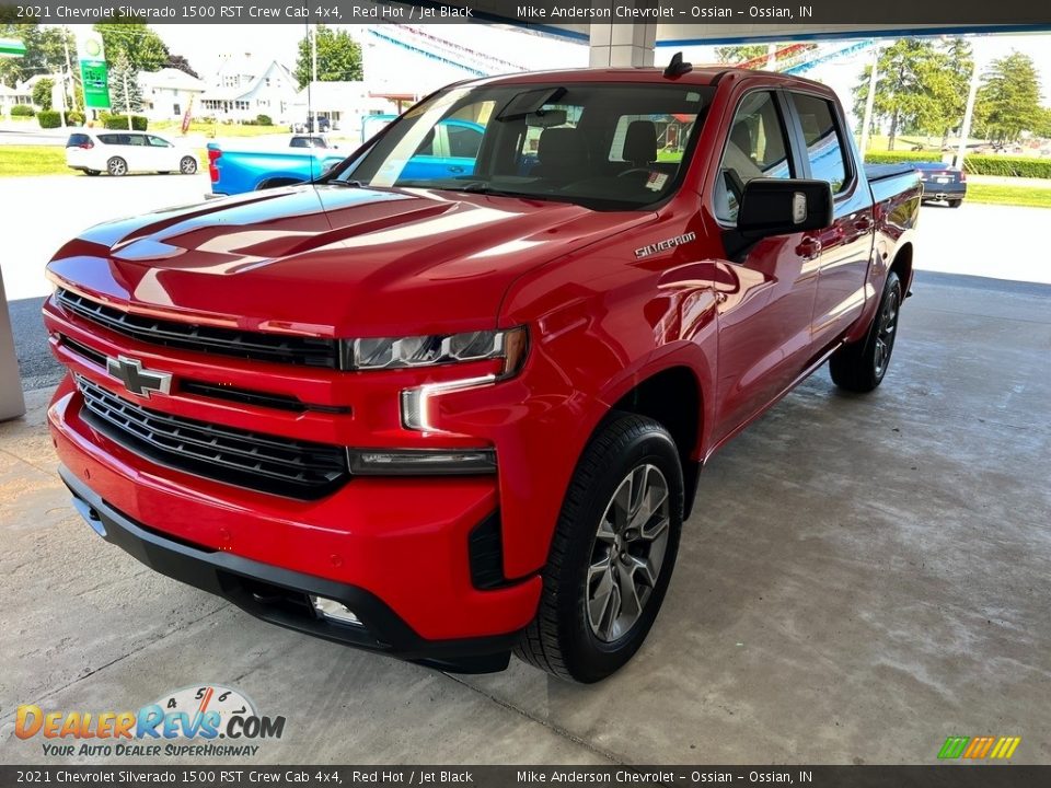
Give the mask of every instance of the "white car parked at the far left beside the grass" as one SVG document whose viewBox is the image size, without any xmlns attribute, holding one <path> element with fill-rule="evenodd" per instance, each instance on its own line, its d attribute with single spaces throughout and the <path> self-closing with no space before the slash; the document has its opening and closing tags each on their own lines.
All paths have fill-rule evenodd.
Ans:
<svg viewBox="0 0 1051 788">
<path fill-rule="evenodd" d="M 66 142 L 66 164 L 89 175 L 107 172 L 197 172 L 197 155 L 189 148 L 146 131 L 83 129 Z"/>
</svg>

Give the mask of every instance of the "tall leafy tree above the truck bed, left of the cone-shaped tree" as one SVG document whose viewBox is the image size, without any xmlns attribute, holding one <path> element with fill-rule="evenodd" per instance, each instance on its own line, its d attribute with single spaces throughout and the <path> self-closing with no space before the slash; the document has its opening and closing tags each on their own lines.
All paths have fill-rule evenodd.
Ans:
<svg viewBox="0 0 1051 788">
<path fill-rule="evenodd" d="M 887 150 L 905 130 L 942 134 L 949 123 L 946 96 L 951 93 L 948 56 L 927 40 L 901 38 L 879 55 L 873 120 L 889 126 Z M 871 66 L 854 86 L 854 114 L 865 116 Z"/>
</svg>

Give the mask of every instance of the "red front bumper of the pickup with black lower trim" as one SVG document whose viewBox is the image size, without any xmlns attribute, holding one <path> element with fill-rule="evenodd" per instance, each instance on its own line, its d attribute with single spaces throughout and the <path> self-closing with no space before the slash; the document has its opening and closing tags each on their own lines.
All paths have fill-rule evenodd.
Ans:
<svg viewBox="0 0 1051 788">
<path fill-rule="evenodd" d="M 497 511 L 494 478 L 357 477 L 294 500 L 154 465 L 82 419 L 82 403 L 67 379 L 48 412 L 63 478 L 113 533 L 130 534 L 107 528 L 109 541 L 159 571 L 267 621 L 412 660 L 506 652 L 535 614 L 538 575 L 480 583 L 473 572 L 472 541 Z M 129 548 L 142 540 L 149 548 Z M 277 587 L 343 602 L 367 637 L 287 599 L 261 606 L 245 596 L 259 584 L 263 596 Z"/>
</svg>

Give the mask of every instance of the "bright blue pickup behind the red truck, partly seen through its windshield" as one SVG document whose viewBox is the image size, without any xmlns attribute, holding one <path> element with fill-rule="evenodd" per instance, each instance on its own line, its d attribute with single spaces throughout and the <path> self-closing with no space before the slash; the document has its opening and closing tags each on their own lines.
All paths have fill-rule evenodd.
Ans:
<svg viewBox="0 0 1051 788">
<path fill-rule="evenodd" d="M 393 117 L 377 117 L 393 120 Z M 470 120 L 443 120 L 420 142 L 408 160 L 403 177 L 429 179 L 470 175 L 474 172 L 483 131 L 483 126 Z M 234 150 L 209 142 L 211 195 L 235 195 L 313 181 L 343 158 L 331 148 Z"/>
</svg>

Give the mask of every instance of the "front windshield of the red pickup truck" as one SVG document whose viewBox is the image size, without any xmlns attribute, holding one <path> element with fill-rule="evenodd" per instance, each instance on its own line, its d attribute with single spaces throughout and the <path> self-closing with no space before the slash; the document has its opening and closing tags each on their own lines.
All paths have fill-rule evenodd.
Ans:
<svg viewBox="0 0 1051 788">
<path fill-rule="evenodd" d="M 652 83 L 454 88 L 397 118 L 330 182 L 642 209 L 678 188 L 713 93 Z"/>
</svg>

